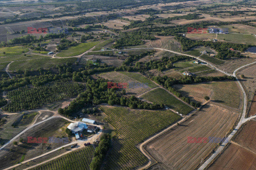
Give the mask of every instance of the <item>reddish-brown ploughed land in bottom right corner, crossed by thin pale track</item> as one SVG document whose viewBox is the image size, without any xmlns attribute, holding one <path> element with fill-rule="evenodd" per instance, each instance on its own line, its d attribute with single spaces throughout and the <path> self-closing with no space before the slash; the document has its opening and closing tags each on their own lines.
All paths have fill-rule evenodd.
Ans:
<svg viewBox="0 0 256 170">
<path fill-rule="evenodd" d="M 253 170 L 256 169 L 256 122 L 246 123 L 234 142 L 208 168 L 209 170 Z"/>
</svg>

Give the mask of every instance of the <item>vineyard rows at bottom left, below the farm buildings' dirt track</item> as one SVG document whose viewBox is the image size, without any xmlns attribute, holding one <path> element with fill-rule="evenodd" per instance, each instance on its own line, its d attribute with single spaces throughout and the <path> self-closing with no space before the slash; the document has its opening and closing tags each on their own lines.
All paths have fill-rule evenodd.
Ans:
<svg viewBox="0 0 256 170">
<path fill-rule="evenodd" d="M 31 170 L 90 170 L 89 166 L 93 158 L 93 152 L 93 147 L 88 146 L 39 165 Z"/>
</svg>

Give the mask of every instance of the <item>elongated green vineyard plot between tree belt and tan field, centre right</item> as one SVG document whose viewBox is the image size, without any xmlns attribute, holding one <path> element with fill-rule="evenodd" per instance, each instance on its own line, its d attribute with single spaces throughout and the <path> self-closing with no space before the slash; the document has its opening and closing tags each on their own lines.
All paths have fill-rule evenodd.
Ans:
<svg viewBox="0 0 256 170">
<path fill-rule="evenodd" d="M 183 115 L 187 115 L 189 112 L 193 111 L 193 108 L 178 100 L 162 88 L 151 90 L 145 95 L 142 95 L 141 98 L 156 104 L 164 104 Z"/>
</svg>

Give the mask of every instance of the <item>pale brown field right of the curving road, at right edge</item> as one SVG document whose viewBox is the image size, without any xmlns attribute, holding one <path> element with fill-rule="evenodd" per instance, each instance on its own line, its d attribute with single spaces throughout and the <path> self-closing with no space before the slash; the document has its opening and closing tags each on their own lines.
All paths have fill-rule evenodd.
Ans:
<svg viewBox="0 0 256 170">
<path fill-rule="evenodd" d="M 248 67 L 245 67 L 245 69 L 240 70 L 237 72 L 238 77 L 241 79 L 241 83 L 244 85 L 246 93 L 248 95 L 248 99 L 252 100 L 254 96 L 254 92 L 256 90 L 256 65 L 250 65 Z M 245 78 L 241 78 L 241 75 L 244 75 Z"/>
</svg>

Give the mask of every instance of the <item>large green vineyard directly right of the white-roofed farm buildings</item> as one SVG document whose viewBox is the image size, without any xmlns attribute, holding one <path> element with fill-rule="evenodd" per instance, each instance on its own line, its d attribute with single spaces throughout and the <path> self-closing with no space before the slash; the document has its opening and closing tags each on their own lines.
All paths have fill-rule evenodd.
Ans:
<svg viewBox="0 0 256 170">
<path fill-rule="evenodd" d="M 126 107 L 107 106 L 100 109 L 107 115 L 105 120 L 113 126 L 117 136 L 105 167 L 112 170 L 145 165 L 148 159 L 136 146 L 181 118 L 171 111 L 131 111 Z"/>
</svg>

